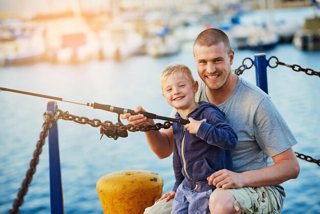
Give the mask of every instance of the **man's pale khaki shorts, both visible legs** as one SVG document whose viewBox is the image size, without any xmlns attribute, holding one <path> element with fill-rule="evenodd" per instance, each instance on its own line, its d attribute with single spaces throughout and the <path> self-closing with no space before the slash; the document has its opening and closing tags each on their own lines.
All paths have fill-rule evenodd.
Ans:
<svg viewBox="0 0 320 214">
<path fill-rule="evenodd" d="M 241 189 L 227 189 L 236 198 L 244 213 L 280 213 L 275 195 L 267 187 L 244 187 Z M 144 214 L 170 214 L 173 199 L 156 201 L 145 209 Z M 236 207 L 235 207 L 236 209 Z"/>
</svg>

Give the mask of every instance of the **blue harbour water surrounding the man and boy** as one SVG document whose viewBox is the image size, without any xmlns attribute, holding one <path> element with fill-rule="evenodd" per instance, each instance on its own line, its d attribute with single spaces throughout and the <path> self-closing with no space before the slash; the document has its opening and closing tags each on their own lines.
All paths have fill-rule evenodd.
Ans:
<svg viewBox="0 0 320 214">
<path fill-rule="evenodd" d="M 236 50 L 233 69 L 256 51 Z M 320 52 L 301 52 L 291 44 L 265 52 L 288 64 L 319 71 Z M 63 97 L 82 102 L 99 102 L 167 116 L 171 107 L 159 88 L 159 72 L 173 61 L 185 63 L 198 78 L 191 46 L 174 56 L 154 59 L 135 56 L 122 62 L 92 61 L 82 65 L 36 65 L 0 69 L 0 87 Z M 254 68 L 243 78 L 256 83 Z M 299 144 L 294 151 L 320 158 L 320 78 L 278 66 L 268 69 L 269 95 L 287 121 Z M 6 213 L 16 197 L 29 167 L 39 133 L 42 114 L 49 99 L 0 92 L 0 213 Z M 117 115 L 87 106 L 57 101 L 58 108 L 90 119 L 117 122 Z M 125 122 L 125 121 L 124 121 Z M 162 121 L 159 121 L 162 122 Z M 126 123 L 126 122 L 125 122 Z M 159 160 L 148 147 L 144 134 L 129 133 L 118 140 L 103 137 L 99 128 L 59 120 L 59 146 L 65 213 L 103 213 L 96 182 L 118 170 L 145 169 L 164 178 L 163 191 L 174 183 L 171 157 Z M 283 213 L 320 213 L 320 167 L 299 160 L 300 176 L 284 183 L 287 198 Z M 21 213 L 50 213 L 48 139 L 37 171 L 20 207 Z"/>
</svg>

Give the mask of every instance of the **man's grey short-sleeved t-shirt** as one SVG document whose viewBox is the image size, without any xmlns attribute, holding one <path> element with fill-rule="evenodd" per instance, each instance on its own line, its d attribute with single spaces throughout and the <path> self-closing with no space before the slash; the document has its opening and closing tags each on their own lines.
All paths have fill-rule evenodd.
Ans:
<svg viewBox="0 0 320 214">
<path fill-rule="evenodd" d="M 209 102 L 204 82 L 198 82 L 196 101 Z M 237 147 L 231 151 L 235 172 L 270 166 L 274 163 L 272 156 L 297 143 L 270 97 L 241 77 L 232 95 L 217 106 L 225 113 L 226 121 L 238 135 Z M 283 186 L 280 184 L 268 188 L 275 192 L 282 207 L 285 198 Z"/>
</svg>

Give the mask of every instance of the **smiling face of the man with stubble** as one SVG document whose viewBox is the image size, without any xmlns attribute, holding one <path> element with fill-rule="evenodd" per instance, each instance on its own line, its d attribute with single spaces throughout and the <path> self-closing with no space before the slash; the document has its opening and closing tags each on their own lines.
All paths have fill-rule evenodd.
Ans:
<svg viewBox="0 0 320 214">
<path fill-rule="evenodd" d="M 233 50 L 228 54 L 223 42 L 220 42 L 210 47 L 195 45 L 193 54 L 198 74 L 209 89 L 220 89 L 227 83 L 231 74 Z"/>
</svg>

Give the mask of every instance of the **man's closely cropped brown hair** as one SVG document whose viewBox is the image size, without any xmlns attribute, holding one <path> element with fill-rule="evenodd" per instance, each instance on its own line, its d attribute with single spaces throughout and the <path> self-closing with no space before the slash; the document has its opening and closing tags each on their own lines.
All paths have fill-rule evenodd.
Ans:
<svg viewBox="0 0 320 214">
<path fill-rule="evenodd" d="M 194 41 L 194 45 L 210 47 L 213 45 L 218 45 L 220 42 L 223 42 L 224 47 L 228 54 L 231 53 L 231 45 L 228 36 L 217 28 L 209 28 L 202 31 Z"/>
</svg>

